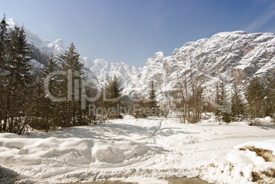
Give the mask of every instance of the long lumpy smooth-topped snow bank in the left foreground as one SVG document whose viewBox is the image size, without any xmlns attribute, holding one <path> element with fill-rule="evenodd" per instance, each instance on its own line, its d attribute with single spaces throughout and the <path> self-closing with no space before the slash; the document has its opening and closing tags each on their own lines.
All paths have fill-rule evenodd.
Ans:
<svg viewBox="0 0 275 184">
<path fill-rule="evenodd" d="M 49 137 L 22 138 L 14 134 L 0 134 L 1 161 L 20 161 L 23 164 L 56 163 L 84 166 L 92 162 L 122 163 L 148 153 L 148 146 L 132 141 Z"/>
</svg>

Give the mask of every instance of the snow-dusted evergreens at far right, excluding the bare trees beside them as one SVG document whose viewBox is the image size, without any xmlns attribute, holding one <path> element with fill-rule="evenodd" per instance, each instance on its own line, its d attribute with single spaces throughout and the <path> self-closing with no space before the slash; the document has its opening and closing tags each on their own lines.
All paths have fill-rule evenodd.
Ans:
<svg viewBox="0 0 275 184">
<path fill-rule="evenodd" d="M 231 86 L 231 103 L 227 106 L 230 107 L 229 111 L 226 107 L 226 102 L 222 97 L 224 94 L 224 86 L 216 86 L 215 102 L 219 107 L 215 109 L 215 115 L 220 117 L 225 122 L 248 120 L 250 124 L 255 124 L 255 118 L 263 118 L 270 116 L 274 118 L 275 115 L 275 73 L 273 72 L 270 77 L 259 78 L 252 77 L 244 93 L 234 83 Z"/>
</svg>

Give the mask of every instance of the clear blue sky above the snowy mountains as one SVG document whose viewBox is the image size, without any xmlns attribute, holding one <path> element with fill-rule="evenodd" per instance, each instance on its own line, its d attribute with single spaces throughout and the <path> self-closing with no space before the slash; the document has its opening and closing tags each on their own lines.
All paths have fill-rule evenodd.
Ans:
<svg viewBox="0 0 275 184">
<path fill-rule="evenodd" d="M 142 67 L 221 31 L 275 32 L 273 0 L 0 0 L 0 14 L 82 56 Z"/>
</svg>

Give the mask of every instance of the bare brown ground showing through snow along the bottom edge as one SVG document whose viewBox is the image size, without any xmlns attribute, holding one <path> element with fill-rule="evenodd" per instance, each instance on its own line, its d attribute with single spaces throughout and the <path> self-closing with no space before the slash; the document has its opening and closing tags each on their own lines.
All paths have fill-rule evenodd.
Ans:
<svg viewBox="0 0 275 184">
<path fill-rule="evenodd" d="M 207 181 L 202 181 L 199 178 L 167 178 L 167 179 L 163 179 L 168 181 L 169 184 L 208 184 Z M 84 184 L 101 184 L 101 183 L 105 183 L 105 184 L 133 184 L 133 183 L 129 183 L 129 182 L 123 182 L 123 181 L 92 181 L 89 183 L 84 183 Z M 75 183 L 75 184 L 83 184 L 83 183 Z M 157 183 L 156 183 L 157 184 Z"/>
</svg>

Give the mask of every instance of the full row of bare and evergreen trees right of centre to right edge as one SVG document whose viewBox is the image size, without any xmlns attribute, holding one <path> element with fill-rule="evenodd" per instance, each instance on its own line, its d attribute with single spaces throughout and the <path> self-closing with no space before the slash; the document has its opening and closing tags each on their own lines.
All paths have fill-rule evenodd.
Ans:
<svg viewBox="0 0 275 184">
<path fill-rule="evenodd" d="M 220 80 L 211 94 L 213 102 L 204 96 L 204 80 L 190 76 L 178 77 L 179 90 L 173 93 L 174 111 L 181 123 L 199 122 L 207 112 L 213 112 L 218 121 L 246 120 L 251 125 L 257 124 L 257 118 L 275 118 L 275 72 L 265 78 L 252 77 L 242 90 L 232 81 Z"/>
</svg>

